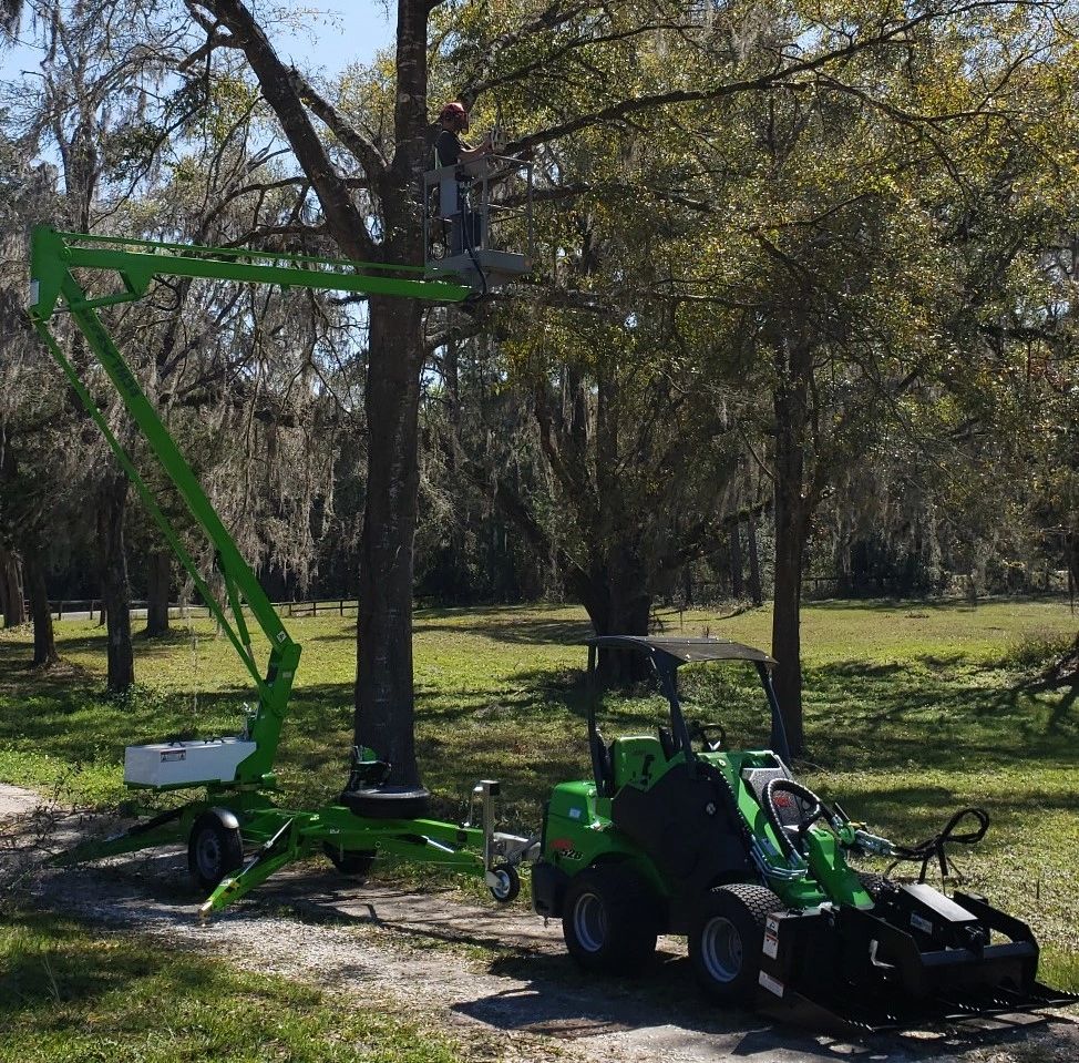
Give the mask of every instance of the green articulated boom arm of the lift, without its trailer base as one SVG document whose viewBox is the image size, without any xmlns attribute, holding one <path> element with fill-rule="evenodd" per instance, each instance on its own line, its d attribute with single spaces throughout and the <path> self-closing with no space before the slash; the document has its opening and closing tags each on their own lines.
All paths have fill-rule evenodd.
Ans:
<svg viewBox="0 0 1079 1063">
<path fill-rule="evenodd" d="M 93 298 L 74 270 L 111 276 L 121 290 Z M 452 279 L 431 280 L 422 267 L 387 266 L 302 255 L 285 255 L 244 248 L 197 247 L 186 244 L 64 233 L 48 226 L 33 231 L 29 314 L 49 351 L 63 370 L 86 411 L 101 429 L 146 508 L 179 558 L 214 619 L 225 631 L 255 684 L 258 706 L 248 723 L 246 738 L 254 750 L 236 767 L 235 785 L 273 786 L 273 765 L 300 646 L 288 634 L 259 585 L 228 529 L 206 497 L 194 471 L 181 453 L 152 403 L 143 393 L 97 310 L 143 298 L 155 277 L 193 277 L 279 285 L 317 290 L 389 295 L 429 303 L 461 303 L 471 287 Z M 203 579 L 191 553 L 153 492 L 140 476 L 122 443 L 50 329 L 50 321 L 66 311 L 85 337 L 86 345 L 107 374 L 132 420 L 148 443 L 162 469 L 183 497 L 195 522 L 209 539 L 224 583 L 224 601 Z M 265 673 L 251 646 L 244 606 L 250 610 L 270 645 Z M 186 783 L 184 785 L 197 785 Z M 161 788 L 168 788 L 163 786 Z"/>
</svg>

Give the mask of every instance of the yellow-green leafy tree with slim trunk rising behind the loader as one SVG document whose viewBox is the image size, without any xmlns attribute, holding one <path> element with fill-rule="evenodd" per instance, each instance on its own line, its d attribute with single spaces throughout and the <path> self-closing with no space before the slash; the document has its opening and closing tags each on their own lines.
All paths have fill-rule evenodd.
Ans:
<svg viewBox="0 0 1079 1063">
<path fill-rule="evenodd" d="M 799 749 L 814 514 L 902 397 L 931 369 L 947 376 L 952 337 L 937 323 L 964 304 L 976 313 L 979 286 L 999 290 L 997 275 L 954 260 L 949 222 L 976 213 L 972 178 L 994 153 L 1010 164 L 1030 162 L 1031 142 L 1046 152 L 1030 132 L 1047 130 L 1038 71 L 1068 69 L 1070 28 L 1054 4 L 784 14 L 732 6 L 691 24 L 678 4 L 470 6 L 452 9 L 443 41 L 450 83 L 481 104 L 495 96 L 527 130 L 518 143 L 551 183 L 541 200 L 623 195 L 627 214 L 608 211 L 608 232 L 646 211 L 696 216 L 698 238 L 660 259 L 661 279 L 746 307 L 739 343 L 758 352 L 748 382 L 771 395 L 773 653 Z M 584 151 L 544 170 L 545 150 L 567 139 Z M 657 156 L 666 174 L 649 168 Z M 1004 233 L 980 237 L 1006 252 Z M 643 264 L 654 274 L 656 257 Z"/>
</svg>

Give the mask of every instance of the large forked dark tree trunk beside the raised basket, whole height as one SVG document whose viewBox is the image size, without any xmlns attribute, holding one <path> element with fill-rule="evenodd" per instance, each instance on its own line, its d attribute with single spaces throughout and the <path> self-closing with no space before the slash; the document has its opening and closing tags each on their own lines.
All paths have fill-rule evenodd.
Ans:
<svg viewBox="0 0 1079 1063">
<path fill-rule="evenodd" d="M 345 134 L 382 208 L 380 245 L 374 244 L 370 219 L 360 213 L 311 123 L 307 108 L 318 110 L 311 93 L 280 61 L 248 6 L 240 0 L 205 0 L 205 6 L 228 29 L 230 44 L 247 57 L 342 253 L 358 260 L 378 257 L 393 266 L 422 265 L 422 216 L 415 188 L 430 156 L 429 0 L 399 0 L 397 6 L 392 160 L 388 164 L 381 151 L 356 130 Z M 328 121 L 337 123 L 337 119 Z M 336 125 L 336 131 L 340 129 Z M 418 780 L 412 735 L 412 541 L 419 490 L 422 308 L 414 300 L 389 297 L 372 297 L 368 307 L 364 402 L 370 446 L 359 556 L 354 736 L 358 744 L 371 746 L 392 764 L 391 783 L 409 784 Z"/>
</svg>

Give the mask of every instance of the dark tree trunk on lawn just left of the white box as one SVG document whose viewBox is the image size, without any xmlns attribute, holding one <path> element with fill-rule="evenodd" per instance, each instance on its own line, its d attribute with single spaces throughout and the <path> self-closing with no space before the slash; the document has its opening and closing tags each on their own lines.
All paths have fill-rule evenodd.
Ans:
<svg viewBox="0 0 1079 1063">
<path fill-rule="evenodd" d="M 122 694 L 135 682 L 131 650 L 131 590 L 124 550 L 124 514 L 127 510 L 127 478 L 110 473 L 101 487 L 97 504 L 97 551 L 101 564 L 101 599 L 105 612 L 109 648 L 110 694 Z"/>
</svg>

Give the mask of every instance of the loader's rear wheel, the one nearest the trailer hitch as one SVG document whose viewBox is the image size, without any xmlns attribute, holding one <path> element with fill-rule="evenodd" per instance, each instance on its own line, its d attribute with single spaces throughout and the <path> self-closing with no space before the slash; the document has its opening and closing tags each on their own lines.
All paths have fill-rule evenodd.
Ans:
<svg viewBox="0 0 1079 1063">
<path fill-rule="evenodd" d="M 569 880 L 562 933 L 583 970 L 636 974 L 656 951 L 657 931 L 656 899 L 631 868 L 588 868 Z"/>
</svg>

